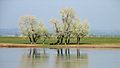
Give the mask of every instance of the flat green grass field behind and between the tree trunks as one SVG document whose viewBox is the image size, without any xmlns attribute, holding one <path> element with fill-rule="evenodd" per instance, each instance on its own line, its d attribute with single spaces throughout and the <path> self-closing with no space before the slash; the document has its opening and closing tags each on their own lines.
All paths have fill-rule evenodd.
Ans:
<svg viewBox="0 0 120 68">
<path fill-rule="evenodd" d="M 56 38 L 48 38 L 45 41 L 45 44 L 55 43 Z M 38 44 L 41 44 L 43 39 L 37 41 Z M 24 37 L 0 37 L 0 43 L 14 43 L 14 44 L 27 44 L 29 40 Z M 71 39 L 71 44 L 76 44 L 76 38 Z M 110 38 L 110 37 L 90 37 L 82 38 L 81 44 L 119 44 L 120 38 Z"/>
</svg>

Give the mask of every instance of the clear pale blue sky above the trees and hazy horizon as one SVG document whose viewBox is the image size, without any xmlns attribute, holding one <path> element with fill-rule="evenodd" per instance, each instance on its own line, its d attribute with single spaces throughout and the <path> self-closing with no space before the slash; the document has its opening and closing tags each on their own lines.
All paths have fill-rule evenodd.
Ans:
<svg viewBox="0 0 120 68">
<path fill-rule="evenodd" d="M 49 20 L 60 20 L 59 11 L 71 7 L 90 30 L 120 30 L 120 0 L 0 0 L 0 28 L 19 28 L 19 18 L 33 15 L 51 29 Z"/>
</svg>

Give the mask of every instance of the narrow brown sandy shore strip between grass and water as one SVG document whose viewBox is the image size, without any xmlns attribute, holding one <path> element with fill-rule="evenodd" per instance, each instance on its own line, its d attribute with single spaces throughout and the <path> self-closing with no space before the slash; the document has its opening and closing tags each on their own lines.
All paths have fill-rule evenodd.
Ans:
<svg viewBox="0 0 120 68">
<path fill-rule="evenodd" d="M 120 48 L 120 44 L 42 45 L 0 43 L 0 48 Z"/>
</svg>

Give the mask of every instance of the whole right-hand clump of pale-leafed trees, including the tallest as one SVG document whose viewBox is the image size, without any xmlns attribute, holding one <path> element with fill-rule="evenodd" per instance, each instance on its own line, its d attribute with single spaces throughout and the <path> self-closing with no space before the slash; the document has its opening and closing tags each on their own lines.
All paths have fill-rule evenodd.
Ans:
<svg viewBox="0 0 120 68">
<path fill-rule="evenodd" d="M 79 18 L 75 15 L 75 11 L 72 8 L 63 8 L 60 10 L 61 22 L 55 18 L 51 19 L 50 22 L 56 29 L 56 35 L 58 38 L 57 43 L 63 42 L 65 38 L 65 44 L 70 43 L 70 37 L 76 36 L 77 43 L 80 43 L 80 38 L 88 35 L 88 21 L 85 20 L 81 23 Z"/>
</svg>

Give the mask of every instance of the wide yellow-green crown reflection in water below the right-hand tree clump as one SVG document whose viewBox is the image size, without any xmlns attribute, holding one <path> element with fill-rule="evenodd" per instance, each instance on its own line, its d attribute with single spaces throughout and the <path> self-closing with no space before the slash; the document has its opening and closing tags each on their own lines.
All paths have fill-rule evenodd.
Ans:
<svg viewBox="0 0 120 68">
<path fill-rule="evenodd" d="M 87 54 L 81 54 L 80 57 L 58 56 L 55 68 L 88 68 L 88 56 Z"/>
</svg>

